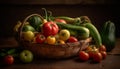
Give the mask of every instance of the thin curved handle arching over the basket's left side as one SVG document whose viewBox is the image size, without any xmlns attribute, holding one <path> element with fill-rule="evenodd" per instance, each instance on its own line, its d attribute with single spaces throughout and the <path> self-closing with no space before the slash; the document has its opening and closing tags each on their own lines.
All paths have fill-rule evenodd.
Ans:
<svg viewBox="0 0 120 69">
<path fill-rule="evenodd" d="M 39 16 L 42 21 L 44 20 L 44 18 L 43 18 L 41 15 L 39 15 L 39 14 L 31 14 L 31 15 L 27 16 L 27 17 L 23 20 L 23 22 L 22 22 L 22 24 L 21 24 L 21 26 L 20 26 L 20 28 L 19 28 L 19 31 L 18 31 L 18 36 L 19 36 L 18 39 L 19 39 L 20 41 L 21 41 L 21 37 L 22 37 L 22 28 L 23 28 L 24 24 L 27 22 L 27 20 L 28 20 L 30 17 L 32 17 L 32 16 Z"/>
</svg>

